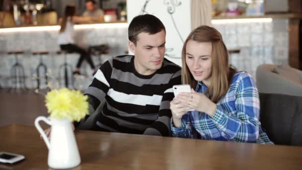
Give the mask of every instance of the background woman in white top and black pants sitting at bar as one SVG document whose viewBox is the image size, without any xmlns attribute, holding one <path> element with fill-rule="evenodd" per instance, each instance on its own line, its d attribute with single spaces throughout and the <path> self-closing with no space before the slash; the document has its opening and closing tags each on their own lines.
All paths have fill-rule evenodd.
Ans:
<svg viewBox="0 0 302 170">
<path fill-rule="evenodd" d="M 62 50 L 68 52 L 76 52 L 80 54 L 80 58 L 76 64 L 76 68 L 74 74 L 80 74 L 80 66 L 83 63 L 83 60 L 86 59 L 88 64 L 90 65 L 91 69 L 93 70 L 93 74 L 97 71 L 95 66 L 92 62 L 91 56 L 89 53 L 75 45 L 74 40 L 74 24 L 75 23 L 84 23 L 91 21 L 91 17 L 82 17 L 82 16 L 75 16 L 75 6 L 74 5 L 67 5 L 65 8 L 65 15 L 61 22 L 61 29 L 59 34 L 59 44 Z"/>
</svg>

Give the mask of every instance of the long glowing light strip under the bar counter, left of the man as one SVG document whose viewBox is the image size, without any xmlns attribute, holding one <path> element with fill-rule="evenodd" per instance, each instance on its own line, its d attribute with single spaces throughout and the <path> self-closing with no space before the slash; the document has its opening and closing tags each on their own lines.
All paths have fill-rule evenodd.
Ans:
<svg viewBox="0 0 302 170">
<path fill-rule="evenodd" d="M 75 29 L 102 29 L 102 28 L 127 28 L 127 23 L 102 23 L 102 24 L 80 24 L 75 25 Z M 31 26 L 31 27 L 15 27 L 0 28 L 0 33 L 5 32 L 33 32 L 33 31 L 59 31 L 60 26 Z"/>
</svg>

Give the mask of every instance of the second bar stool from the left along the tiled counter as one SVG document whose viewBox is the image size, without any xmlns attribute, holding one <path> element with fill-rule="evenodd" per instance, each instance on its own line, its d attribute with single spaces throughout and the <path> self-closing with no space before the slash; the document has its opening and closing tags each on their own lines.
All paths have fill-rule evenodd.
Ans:
<svg viewBox="0 0 302 170">
<path fill-rule="evenodd" d="M 47 66 L 43 63 L 43 55 L 48 55 L 48 51 L 34 51 L 32 52 L 32 55 L 40 55 L 39 64 L 36 68 L 37 73 L 37 88 L 40 88 L 40 81 L 44 78 L 45 84 L 48 85 L 48 76 L 47 76 Z M 44 75 L 41 75 L 40 77 L 40 68 L 44 70 Z"/>
</svg>

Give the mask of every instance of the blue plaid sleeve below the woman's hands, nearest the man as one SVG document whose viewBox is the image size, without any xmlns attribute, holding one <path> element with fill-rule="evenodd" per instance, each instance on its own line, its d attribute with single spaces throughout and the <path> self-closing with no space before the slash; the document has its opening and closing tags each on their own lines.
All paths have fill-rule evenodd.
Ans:
<svg viewBox="0 0 302 170">
<path fill-rule="evenodd" d="M 181 120 L 182 120 L 181 127 L 174 127 L 173 120 L 171 118 L 170 126 L 171 126 L 172 136 L 195 139 L 196 138 L 195 136 L 197 136 L 197 132 L 192 127 L 189 114 L 183 115 Z"/>
</svg>

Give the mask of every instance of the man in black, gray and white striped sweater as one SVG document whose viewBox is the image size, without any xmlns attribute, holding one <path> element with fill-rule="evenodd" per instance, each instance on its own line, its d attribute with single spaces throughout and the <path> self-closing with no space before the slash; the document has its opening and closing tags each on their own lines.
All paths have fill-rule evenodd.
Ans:
<svg viewBox="0 0 302 170">
<path fill-rule="evenodd" d="M 181 68 L 164 58 L 165 35 L 157 17 L 133 18 L 128 36 L 135 55 L 105 62 L 85 92 L 90 115 L 105 101 L 92 130 L 170 136 L 172 86 L 181 84 Z"/>
</svg>

